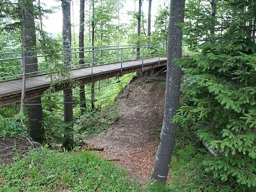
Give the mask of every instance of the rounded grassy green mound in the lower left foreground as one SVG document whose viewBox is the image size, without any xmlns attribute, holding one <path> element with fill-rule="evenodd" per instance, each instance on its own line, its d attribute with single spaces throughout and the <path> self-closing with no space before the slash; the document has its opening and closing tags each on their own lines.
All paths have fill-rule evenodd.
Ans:
<svg viewBox="0 0 256 192">
<path fill-rule="evenodd" d="M 87 151 L 31 151 L 0 167 L 0 178 L 0 191 L 140 191 L 127 172 Z"/>
</svg>

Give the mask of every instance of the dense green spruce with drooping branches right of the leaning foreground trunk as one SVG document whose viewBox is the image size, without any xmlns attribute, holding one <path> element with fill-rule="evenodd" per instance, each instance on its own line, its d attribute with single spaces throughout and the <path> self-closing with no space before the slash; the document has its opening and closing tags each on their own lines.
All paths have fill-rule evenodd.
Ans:
<svg viewBox="0 0 256 192">
<path fill-rule="evenodd" d="M 174 166 L 172 187 L 176 191 L 255 191 L 256 44 L 250 26 L 255 3 L 216 1 L 215 34 L 207 36 L 212 27 L 209 6 L 197 1 L 187 4 L 190 20 L 184 26 L 185 41 L 190 49 L 202 52 L 178 62 L 185 72 L 185 97 L 174 122 L 192 130 L 218 155 L 195 155 L 193 163 Z M 196 11 L 189 12 L 191 7 Z M 186 170 L 187 178 L 180 179 Z"/>
</svg>

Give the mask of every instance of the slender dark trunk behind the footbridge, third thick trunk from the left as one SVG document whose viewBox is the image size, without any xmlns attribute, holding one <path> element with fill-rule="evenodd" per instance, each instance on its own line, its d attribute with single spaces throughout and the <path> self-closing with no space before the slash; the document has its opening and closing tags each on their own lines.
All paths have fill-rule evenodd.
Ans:
<svg viewBox="0 0 256 192">
<path fill-rule="evenodd" d="M 84 27 L 85 27 L 85 0 L 80 0 L 80 25 L 79 25 L 79 64 L 84 64 Z M 79 87 L 80 96 L 80 114 L 83 115 L 86 110 L 85 85 Z"/>
</svg>

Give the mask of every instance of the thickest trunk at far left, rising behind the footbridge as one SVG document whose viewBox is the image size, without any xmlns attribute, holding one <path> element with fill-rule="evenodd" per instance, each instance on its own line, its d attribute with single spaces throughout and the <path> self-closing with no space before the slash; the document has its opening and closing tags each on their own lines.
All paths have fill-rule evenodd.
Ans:
<svg viewBox="0 0 256 192">
<path fill-rule="evenodd" d="M 35 18 L 33 0 L 18 1 L 21 6 L 21 42 L 23 46 L 23 63 L 26 66 L 26 76 L 37 74 L 38 65 L 35 55 L 37 39 L 35 35 Z M 24 85 L 25 86 L 25 85 Z M 41 97 L 29 99 L 29 133 L 33 140 L 44 141 L 44 129 L 41 125 L 43 112 L 41 107 Z"/>
</svg>

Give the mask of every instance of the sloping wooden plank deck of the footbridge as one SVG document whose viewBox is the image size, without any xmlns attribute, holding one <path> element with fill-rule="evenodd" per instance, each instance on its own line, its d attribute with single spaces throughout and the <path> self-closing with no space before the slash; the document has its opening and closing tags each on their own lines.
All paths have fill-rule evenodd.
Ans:
<svg viewBox="0 0 256 192">
<path fill-rule="evenodd" d="M 155 57 L 151 59 L 93 66 L 93 68 L 79 68 L 71 71 L 70 79 L 78 80 L 80 84 L 88 84 L 110 77 L 133 73 L 135 71 L 146 71 L 148 69 L 157 68 L 158 66 L 166 66 L 166 64 L 166 58 Z M 68 82 L 69 79 L 63 80 L 61 85 L 55 86 L 55 90 L 60 91 L 70 88 Z M 41 96 L 44 91 L 50 87 L 50 83 L 51 79 L 48 77 L 48 74 L 27 77 L 25 99 Z M 0 82 L 0 107 L 20 101 L 21 86 L 21 79 Z"/>
</svg>

